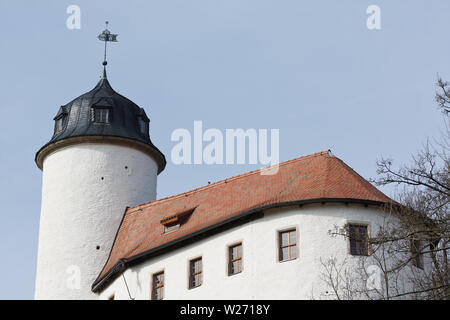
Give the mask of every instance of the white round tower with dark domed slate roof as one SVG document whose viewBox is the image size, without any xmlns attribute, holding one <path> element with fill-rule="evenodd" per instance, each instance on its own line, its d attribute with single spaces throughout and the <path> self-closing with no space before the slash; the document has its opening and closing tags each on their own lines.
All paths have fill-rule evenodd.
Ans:
<svg viewBox="0 0 450 320">
<path fill-rule="evenodd" d="M 164 155 L 145 111 L 116 93 L 106 72 L 62 106 L 55 132 L 36 154 L 43 171 L 36 299 L 96 299 L 127 206 L 156 199 Z"/>
</svg>

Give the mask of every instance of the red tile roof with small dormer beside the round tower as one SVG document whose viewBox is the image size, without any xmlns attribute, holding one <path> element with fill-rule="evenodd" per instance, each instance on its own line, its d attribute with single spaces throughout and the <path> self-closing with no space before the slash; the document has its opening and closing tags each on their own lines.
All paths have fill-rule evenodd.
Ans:
<svg viewBox="0 0 450 320">
<path fill-rule="evenodd" d="M 302 202 L 392 201 L 329 151 L 280 163 L 275 175 L 260 173 L 251 171 L 127 209 L 93 290 L 103 286 L 105 276 L 123 270 L 122 262 L 246 212 Z M 194 208 L 178 230 L 163 234 L 162 220 Z"/>
</svg>

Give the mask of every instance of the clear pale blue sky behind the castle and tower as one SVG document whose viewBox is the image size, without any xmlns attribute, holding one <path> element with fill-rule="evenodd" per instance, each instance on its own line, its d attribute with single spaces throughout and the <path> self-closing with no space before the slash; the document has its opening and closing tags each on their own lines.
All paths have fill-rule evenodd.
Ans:
<svg viewBox="0 0 450 320">
<path fill-rule="evenodd" d="M 69 5 L 81 29 L 66 27 Z M 381 30 L 366 8 L 381 8 Z M 158 197 L 258 168 L 170 162 L 177 128 L 277 128 L 280 161 L 331 149 L 366 178 L 407 162 L 442 118 L 450 1 L 0 0 L 0 299 L 32 299 L 41 199 L 35 152 L 60 105 L 101 74 L 110 21 L 113 88 L 145 108 L 169 163 Z M 393 190 L 383 189 L 390 194 Z"/>
</svg>

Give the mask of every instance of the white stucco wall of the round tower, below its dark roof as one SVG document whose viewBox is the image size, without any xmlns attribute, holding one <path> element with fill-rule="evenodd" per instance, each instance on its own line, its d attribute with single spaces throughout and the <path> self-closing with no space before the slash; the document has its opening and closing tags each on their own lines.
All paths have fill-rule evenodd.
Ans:
<svg viewBox="0 0 450 320">
<path fill-rule="evenodd" d="M 133 148 L 80 143 L 43 163 L 36 299 L 96 299 L 126 206 L 156 199 L 156 162 Z M 99 249 L 97 249 L 99 246 Z"/>
</svg>

